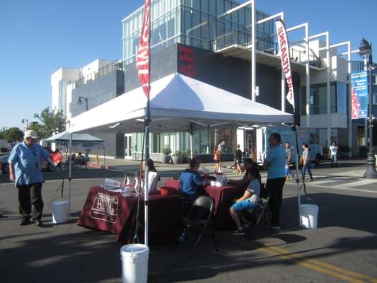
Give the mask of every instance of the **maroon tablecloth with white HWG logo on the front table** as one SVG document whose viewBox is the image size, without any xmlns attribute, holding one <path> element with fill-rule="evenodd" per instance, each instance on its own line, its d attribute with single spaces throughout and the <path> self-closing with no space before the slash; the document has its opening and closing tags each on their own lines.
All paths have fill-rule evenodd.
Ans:
<svg viewBox="0 0 377 283">
<path fill-rule="evenodd" d="M 144 201 L 140 207 L 140 221 L 144 225 Z M 90 187 L 81 211 L 79 226 L 117 234 L 117 241 L 132 243 L 136 226 L 137 197 L 123 197 L 120 192 L 111 192 L 102 187 Z M 179 195 L 149 197 L 149 242 L 173 243 L 180 229 L 182 216 Z M 144 227 L 141 227 L 142 243 Z"/>
</svg>

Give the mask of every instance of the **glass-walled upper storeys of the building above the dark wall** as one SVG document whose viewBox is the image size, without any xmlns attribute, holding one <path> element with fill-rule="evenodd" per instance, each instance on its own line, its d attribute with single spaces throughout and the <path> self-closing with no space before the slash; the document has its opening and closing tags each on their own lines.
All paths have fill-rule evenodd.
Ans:
<svg viewBox="0 0 377 283">
<path fill-rule="evenodd" d="M 204 50 L 219 50 L 238 44 L 250 45 L 251 9 L 245 7 L 218 18 L 239 3 L 231 0 L 152 0 L 151 50 L 182 43 Z M 256 21 L 267 17 L 256 12 Z M 143 7 L 122 21 L 122 61 L 134 62 L 143 21 Z M 257 25 L 257 48 L 268 50 L 274 45 L 273 21 Z"/>
</svg>

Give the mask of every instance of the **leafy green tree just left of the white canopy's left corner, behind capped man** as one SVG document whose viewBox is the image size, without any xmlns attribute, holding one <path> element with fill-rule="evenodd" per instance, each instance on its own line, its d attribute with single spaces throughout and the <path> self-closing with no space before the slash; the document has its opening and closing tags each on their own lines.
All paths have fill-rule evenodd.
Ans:
<svg viewBox="0 0 377 283">
<path fill-rule="evenodd" d="M 40 124 L 32 125 L 29 129 L 37 132 L 40 139 L 50 137 L 57 132 L 64 132 L 66 120 L 62 110 L 50 112 L 50 108 L 45 108 L 40 114 L 34 114 L 40 120 Z"/>
</svg>

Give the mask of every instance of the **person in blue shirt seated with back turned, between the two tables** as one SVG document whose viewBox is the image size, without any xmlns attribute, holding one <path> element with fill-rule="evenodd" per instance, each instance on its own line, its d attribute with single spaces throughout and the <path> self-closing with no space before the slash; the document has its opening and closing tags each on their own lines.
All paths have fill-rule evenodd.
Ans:
<svg viewBox="0 0 377 283">
<path fill-rule="evenodd" d="M 190 161 L 190 168 L 187 168 L 180 174 L 180 190 L 182 196 L 186 198 L 187 204 L 194 203 L 198 196 L 198 187 L 205 185 L 205 180 L 197 172 L 200 166 L 200 161 L 197 158 L 192 158 Z"/>
</svg>

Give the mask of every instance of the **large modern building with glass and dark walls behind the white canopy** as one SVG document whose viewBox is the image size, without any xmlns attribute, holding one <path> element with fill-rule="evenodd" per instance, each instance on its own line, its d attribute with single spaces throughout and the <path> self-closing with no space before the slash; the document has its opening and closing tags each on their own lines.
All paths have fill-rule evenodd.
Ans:
<svg viewBox="0 0 377 283">
<path fill-rule="evenodd" d="M 179 72 L 251 98 L 251 8 L 245 6 L 224 15 L 238 5 L 231 0 L 152 0 L 151 80 Z M 313 36 L 311 40 L 291 45 L 289 54 L 296 93 L 294 111 L 284 98 L 287 88 L 284 81 L 282 83 L 275 19 L 256 11 L 255 20 L 260 21 L 255 28 L 256 101 L 291 112 L 297 125 L 318 129 L 320 144 L 324 147 L 331 141 L 349 146 L 349 131 L 353 128 L 350 129 L 347 114 L 350 96 L 347 59 L 337 47 L 330 49 L 324 38 Z M 94 78 L 88 83 L 76 81 L 67 86 L 68 119 L 86 110 L 75 103 L 79 97 L 87 98 L 90 109 L 140 86 L 135 56 L 142 21 L 143 7 L 122 21 L 122 58 L 113 64 L 112 71 L 102 79 Z M 83 77 L 81 74 L 80 80 L 85 81 Z M 142 134 L 117 133 L 108 139 L 112 140 L 108 145 L 109 156 L 137 158 L 141 151 Z M 249 149 L 255 147 L 255 133 L 250 129 L 219 127 L 193 134 L 197 154 L 210 154 L 211 148 L 221 140 L 227 141 L 229 151 L 233 151 L 236 144 L 245 144 Z M 189 141 L 185 132 L 151 134 L 151 151 L 160 153 L 166 147 L 173 152 L 185 151 Z"/>
</svg>

